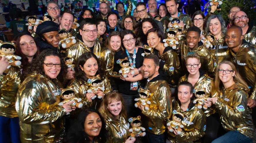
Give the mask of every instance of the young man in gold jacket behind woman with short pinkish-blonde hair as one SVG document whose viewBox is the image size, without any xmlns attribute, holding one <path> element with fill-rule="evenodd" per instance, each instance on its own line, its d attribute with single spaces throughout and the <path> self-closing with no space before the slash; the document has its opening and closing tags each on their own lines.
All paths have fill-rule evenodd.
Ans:
<svg viewBox="0 0 256 143">
<path fill-rule="evenodd" d="M 209 76 L 214 76 L 217 63 L 205 45 L 199 46 L 200 33 L 201 31 L 198 27 L 189 27 L 186 39 L 179 41 L 177 47 L 180 48 L 182 67 L 184 71 L 187 71 L 185 57 L 189 52 L 195 52 L 200 55 L 200 61 L 202 62 L 201 70 L 206 72 Z"/>
</svg>

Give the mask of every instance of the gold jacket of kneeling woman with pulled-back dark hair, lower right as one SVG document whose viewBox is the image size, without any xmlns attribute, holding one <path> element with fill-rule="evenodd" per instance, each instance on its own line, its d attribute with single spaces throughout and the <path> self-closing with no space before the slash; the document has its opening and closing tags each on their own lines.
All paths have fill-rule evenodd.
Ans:
<svg viewBox="0 0 256 143">
<path fill-rule="evenodd" d="M 176 101 L 173 110 L 177 110 L 184 115 L 182 132 L 179 135 L 175 135 L 173 132 L 168 132 L 167 139 L 174 142 L 200 142 L 205 134 L 206 130 L 206 116 L 201 109 L 193 106 L 187 111 L 183 111 L 179 105 L 179 102 Z"/>
</svg>

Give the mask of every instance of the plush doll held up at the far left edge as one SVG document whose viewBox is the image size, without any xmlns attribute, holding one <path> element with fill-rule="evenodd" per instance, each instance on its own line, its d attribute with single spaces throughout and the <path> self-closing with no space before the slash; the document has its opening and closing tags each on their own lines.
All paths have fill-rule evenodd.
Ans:
<svg viewBox="0 0 256 143">
<path fill-rule="evenodd" d="M 6 59 L 8 60 L 8 62 L 10 63 L 10 65 L 8 65 L 7 69 L 5 70 L 4 73 L 7 73 L 9 68 L 12 66 L 20 66 L 21 65 L 21 61 L 19 61 L 21 59 L 20 56 L 15 55 L 14 52 L 16 50 L 16 46 L 15 46 L 15 41 L 11 41 L 11 42 L 3 42 L 0 40 L 0 57 L 6 57 Z"/>
</svg>

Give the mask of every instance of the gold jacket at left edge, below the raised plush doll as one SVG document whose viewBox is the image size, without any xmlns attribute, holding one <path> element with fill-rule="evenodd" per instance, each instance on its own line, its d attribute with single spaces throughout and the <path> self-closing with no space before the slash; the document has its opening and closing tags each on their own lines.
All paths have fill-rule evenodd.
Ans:
<svg viewBox="0 0 256 143">
<path fill-rule="evenodd" d="M 7 75 L 0 75 L 0 116 L 18 117 L 15 102 L 20 88 L 20 68 L 11 66 Z"/>
</svg>

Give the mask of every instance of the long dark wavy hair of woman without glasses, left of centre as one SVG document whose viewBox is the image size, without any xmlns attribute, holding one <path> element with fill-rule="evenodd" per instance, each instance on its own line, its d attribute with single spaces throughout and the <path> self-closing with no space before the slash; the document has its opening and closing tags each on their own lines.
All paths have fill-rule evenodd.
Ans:
<svg viewBox="0 0 256 143">
<path fill-rule="evenodd" d="M 83 53 L 82 55 L 79 56 L 78 60 L 77 60 L 77 64 L 75 65 L 75 78 L 77 80 L 82 80 L 84 82 L 88 81 L 88 78 L 86 77 L 86 74 L 84 73 L 84 71 L 82 71 L 81 67 L 84 67 L 84 64 L 86 63 L 86 61 L 90 58 L 94 58 L 97 61 L 98 64 L 98 71 L 96 72 L 95 75 L 100 75 L 101 80 L 104 80 L 104 72 L 102 70 L 102 67 L 100 66 L 100 62 L 99 59 L 96 57 L 96 55 L 94 55 L 94 53 L 91 52 L 86 52 Z"/>
</svg>

